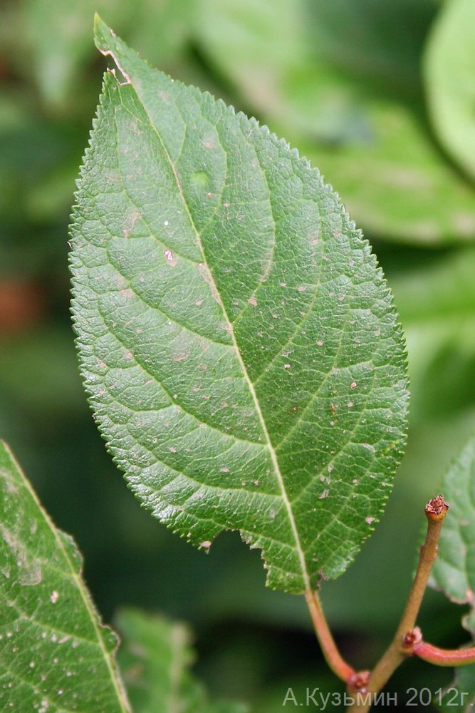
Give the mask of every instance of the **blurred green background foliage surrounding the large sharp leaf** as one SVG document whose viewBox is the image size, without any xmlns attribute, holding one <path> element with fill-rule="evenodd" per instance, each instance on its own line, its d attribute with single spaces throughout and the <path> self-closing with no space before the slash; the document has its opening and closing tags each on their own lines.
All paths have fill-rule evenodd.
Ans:
<svg viewBox="0 0 475 713">
<path fill-rule="evenodd" d="M 257 116 L 318 166 L 372 243 L 407 336 L 407 455 L 375 535 L 324 583 L 347 657 L 395 629 L 424 503 L 475 425 L 473 0 L 2 0 L 0 424 L 85 555 L 106 620 L 133 604 L 189 621 L 213 693 L 281 710 L 288 687 L 338 690 L 301 597 L 264 588 L 236 533 L 209 555 L 142 511 L 85 403 L 68 314 L 67 226 L 100 92 L 98 11 L 153 65 Z M 458 645 L 461 611 L 427 593 L 420 623 Z M 449 682 L 407 662 L 388 689 Z M 427 710 L 427 707 L 424 707 Z"/>
</svg>

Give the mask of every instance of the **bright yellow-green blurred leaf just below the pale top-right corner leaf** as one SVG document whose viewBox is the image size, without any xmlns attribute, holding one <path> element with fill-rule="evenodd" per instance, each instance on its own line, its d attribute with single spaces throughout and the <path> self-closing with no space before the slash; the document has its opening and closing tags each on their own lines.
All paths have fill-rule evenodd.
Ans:
<svg viewBox="0 0 475 713">
<path fill-rule="evenodd" d="M 388 240 L 473 241 L 474 191 L 439 155 L 417 113 L 377 98 L 363 101 L 360 111 L 366 138 L 334 147 L 303 143 L 355 219 Z"/>
</svg>

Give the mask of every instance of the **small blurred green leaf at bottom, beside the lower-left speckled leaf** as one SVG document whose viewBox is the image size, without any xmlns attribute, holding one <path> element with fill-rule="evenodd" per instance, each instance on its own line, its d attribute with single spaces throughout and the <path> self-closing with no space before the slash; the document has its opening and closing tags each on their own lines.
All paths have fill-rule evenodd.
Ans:
<svg viewBox="0 0 475 713">
<path fill-rule="evenodd" d="M 189 672 L 194 662 L 189 630 L 164 617 L 123 610 L 118 661 L 134 713 L 245 713 L 238 703 L 210 702 Z"/>
</svg>

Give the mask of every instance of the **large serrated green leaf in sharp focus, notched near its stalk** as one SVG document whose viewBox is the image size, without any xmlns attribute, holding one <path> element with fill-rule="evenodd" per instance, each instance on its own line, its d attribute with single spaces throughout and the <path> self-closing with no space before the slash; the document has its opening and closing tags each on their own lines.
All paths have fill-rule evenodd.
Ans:
<svg viewBox="0 0 475 713">
<path fill-rule="evenodd" d="M 96 30 L 117 76 L 82 170 L 71 265 L 100 430 L 162 522 L 203 548 L 239 529 L 269 585 L 313 588 L 353 560 L 400 460 L 390 292 L 295 150 Z"/>
</svg>

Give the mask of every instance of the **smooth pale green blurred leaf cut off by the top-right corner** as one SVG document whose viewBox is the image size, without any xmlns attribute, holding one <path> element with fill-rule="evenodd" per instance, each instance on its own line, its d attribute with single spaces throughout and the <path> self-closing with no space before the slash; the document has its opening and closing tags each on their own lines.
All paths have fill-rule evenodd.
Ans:
<svg viewBox="0 0 475 713">
<path fill-rule="evenodd" d="M 427 98 L 439 139 L 475 177 L 475 4 L 446 0 L 425 58 Z"/>
</svg>

